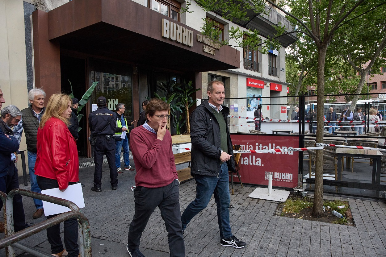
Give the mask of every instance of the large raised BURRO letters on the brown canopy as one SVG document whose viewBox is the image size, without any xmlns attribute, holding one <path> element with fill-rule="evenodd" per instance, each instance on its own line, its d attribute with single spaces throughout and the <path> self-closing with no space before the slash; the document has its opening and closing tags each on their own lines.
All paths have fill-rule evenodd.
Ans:
<svg viewBox="0 0 386 257">
<path fill-rule="evenodd" d="M 162 36 L 186 46 L 193 46 L 193 31 L 162 19 Z"/>
</svg>

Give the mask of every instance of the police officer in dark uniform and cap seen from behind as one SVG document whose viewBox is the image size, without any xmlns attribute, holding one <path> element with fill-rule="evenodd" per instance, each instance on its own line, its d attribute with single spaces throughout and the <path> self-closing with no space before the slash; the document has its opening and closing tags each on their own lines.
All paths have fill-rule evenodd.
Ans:
<svg viewBox="0 0 386 257">
<path fill-rule="evenodd" d="M 110 168 L 111 189 L 116 190 L 118 185 L 118 173 L 115 168 L 115 140 L 114 134 L 117 123 L 117 114 L 107 109 L 106 98 L 103 96 L 97 99 L 98 109 L 88 115 L 88 125 L 94 145 L 94 186 L 92 191 L 101 192 L 102 162 L 103 154 L 106 155 L 108 167 Z"/>
</svg>

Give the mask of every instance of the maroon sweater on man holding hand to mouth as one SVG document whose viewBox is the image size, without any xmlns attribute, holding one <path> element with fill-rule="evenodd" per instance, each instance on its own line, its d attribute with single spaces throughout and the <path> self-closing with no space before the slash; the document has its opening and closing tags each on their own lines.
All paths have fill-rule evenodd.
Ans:
<svg viewBox="0 0 386 257">
<path fill-rule="evenodd" d="M 135 186 L 160 188 L 178 179 L 169 130 L 161 141 L 143 126 L 133 128 L 130 149 L 137 170 Z"/>
</svg>

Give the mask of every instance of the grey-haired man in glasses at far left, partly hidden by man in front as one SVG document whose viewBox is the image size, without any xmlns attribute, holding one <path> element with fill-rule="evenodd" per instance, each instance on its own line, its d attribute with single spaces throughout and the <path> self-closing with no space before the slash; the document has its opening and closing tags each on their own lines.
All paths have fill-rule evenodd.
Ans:
<svg viewBox="0 0 386 257">
<path fill-rule="evenodd" d="M 4 134 L 8 136 L 14 135 L 14 132 L 11 128 L 20 122 L 20 119 L 22 117 L 21 115 L 22 112 L 20 112 L 19 108 L 17 108 L 15 105 L 8 105 L 4 107 L 1 111 L 0 133 L 3 136 Z M 4 141 L 3 143 L 9 144 L 9 141 L 5 140 L 5 138 L 2 140 Z M 13 138 L 13 140 L 17 143 L 16 139 Z M 19 144 L 17 144 L 17 149 L 19 149 Z M 0 165 L 0 191 L 3 191 L 6 194 L 8 194 L 12 189 L 19 188 L 19 177 L 17 173 L 17 168 L 15 166 L 15 162 L 17 162 L 17 155 L 15 153 L 12 153 L 7 154 L 7 156 L 8 158 L 9 156 L 11 156 L 11 158 L 6 158 L 7 161 L 5 161 L 5 158 L 2 159 L 2 161 L 5 161 L 5 163 L 3 165 Z M 1 201 L 0 204 L 1 209 L 1 207 L 3 206 Z M 29 225 L 25 223 L 23 200 L 20 194 L 15 194 L 13 208 L 15 232 L 29 227 Z M 0 222 L 0 232 L 4 232 L 4 230 L 4 223 Z"/>
</svg>

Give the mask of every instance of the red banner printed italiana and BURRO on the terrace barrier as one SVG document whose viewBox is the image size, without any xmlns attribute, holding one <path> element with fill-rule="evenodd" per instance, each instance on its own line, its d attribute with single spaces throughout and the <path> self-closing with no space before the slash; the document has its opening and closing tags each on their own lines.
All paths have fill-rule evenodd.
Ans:
<svg viewBox="0 0 386 257">
<path fill-rule="evenodd" d="M 230 137 L 232 144 L 241 145 L 241 150 L 299 147 L 298 137 L 260 134 L 232 134 Z M 268 176 L 272 174 L 272 186 L 295 188 L 298 185 L 299 152 L 243 153 L 239 166 L 242 183 L 268 185 Z M 237 175 L 233 175 L 237 181 Z"/>
</svg>

